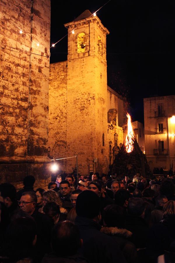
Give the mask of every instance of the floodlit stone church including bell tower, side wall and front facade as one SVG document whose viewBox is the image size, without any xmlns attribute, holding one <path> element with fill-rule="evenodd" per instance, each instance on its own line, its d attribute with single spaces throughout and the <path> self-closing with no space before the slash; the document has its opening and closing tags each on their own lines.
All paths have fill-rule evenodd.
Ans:
<svg viewBox="0 0 175 263">
<path fill-rule="evenodd" d="M 124 136 L 125 98 L 107 86 L 106 35 L 86 10 L 68 29 L 67 61 L 50 64 L 49 154 L 78 155 L 80 174 L 107 173 Z M 72 172 L 75 158 L 60 161 Z"/>
</svg>

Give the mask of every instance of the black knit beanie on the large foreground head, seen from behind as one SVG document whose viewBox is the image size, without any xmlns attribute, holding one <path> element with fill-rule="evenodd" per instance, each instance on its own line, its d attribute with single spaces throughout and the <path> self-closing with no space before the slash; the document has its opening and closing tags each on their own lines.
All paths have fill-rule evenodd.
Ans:
<svg viewBox="0 0 175 263">
<path fill-rule="evenodd" d="M 85 190 L 77 196 L 76 213 L 79 217 L 93 219 L 100 213 L 100 198 L 93 191 Z"/>
</svg>

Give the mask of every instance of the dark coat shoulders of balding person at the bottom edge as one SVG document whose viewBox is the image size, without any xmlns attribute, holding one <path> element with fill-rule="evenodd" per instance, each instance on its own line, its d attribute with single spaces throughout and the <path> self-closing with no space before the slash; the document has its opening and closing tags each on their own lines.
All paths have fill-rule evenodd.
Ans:
<svg viewBox="0 0 175 263">
<path fill-rule="evenodd" d="M 68 248 L 69 249 L 69 248 Z M 58 257 L 53 252 L 46 254 L 41 263 L 88 263 L 84 257 L 79 255 L 69 256 L 69 257 Z"/>
</svg>

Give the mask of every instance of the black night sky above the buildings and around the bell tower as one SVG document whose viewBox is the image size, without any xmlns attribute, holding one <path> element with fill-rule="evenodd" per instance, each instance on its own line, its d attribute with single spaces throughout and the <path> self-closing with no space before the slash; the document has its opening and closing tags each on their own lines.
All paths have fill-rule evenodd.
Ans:
<svg viewBox="0 0 175 263">
<path fill-rule="evenodd" d="M 51 0 L 53 44 L 67 34 L 65 23 L 106 1 Z M 107 35 L 108 85 L 126 96 L 132 120 L 143 123 L 143 98 L 174 95 L 175 3 L 157 0 L 109 1 L 97 16 Z M 67 60 L 67 37 L 51 48 L 50 63 Z"/>
</svg>

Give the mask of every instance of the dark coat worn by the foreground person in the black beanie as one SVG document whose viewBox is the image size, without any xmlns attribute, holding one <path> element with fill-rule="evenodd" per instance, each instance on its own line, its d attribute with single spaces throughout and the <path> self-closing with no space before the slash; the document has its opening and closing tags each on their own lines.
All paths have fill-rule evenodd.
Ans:
<svg viewBox="0 0 175 263">
<path fill-rule="evenodd" d="M 126 262 L 118 243 L 100 232 L 101 226 L 92 219 L 76 217 L 83 246 L 80 252 L 90 263 Z"/>
</svg>

